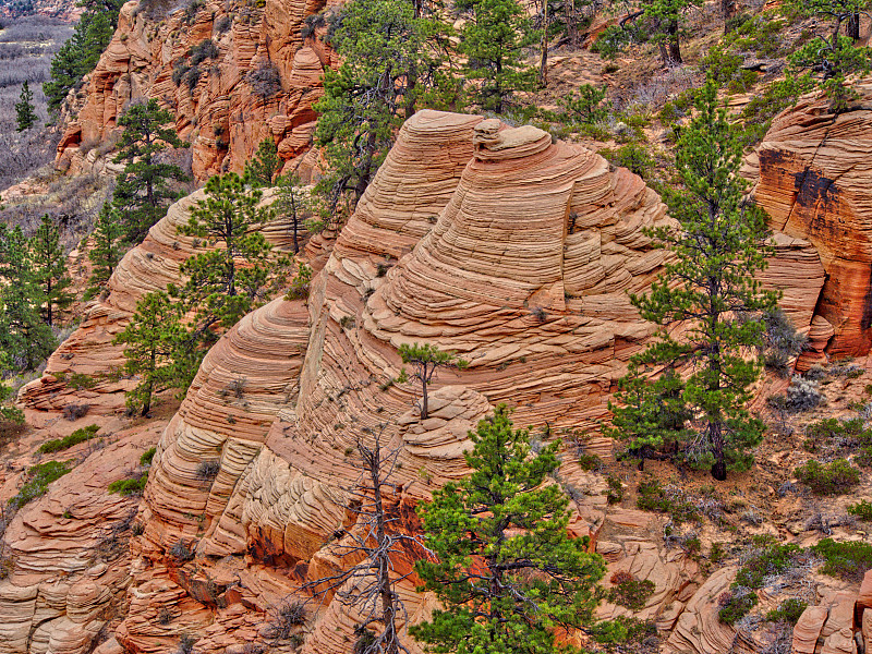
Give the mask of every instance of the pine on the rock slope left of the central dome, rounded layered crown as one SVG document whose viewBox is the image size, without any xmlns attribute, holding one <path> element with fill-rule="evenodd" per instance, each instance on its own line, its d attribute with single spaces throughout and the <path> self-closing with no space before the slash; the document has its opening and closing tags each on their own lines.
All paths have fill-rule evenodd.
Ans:
<svg viewBox="0 0 872 654">
<path fill-rule="evenodd" d="M 215 175 L 206 183 L 206 199 L 197 203 L 181 229 L 221 243 L 219 250 L 195 254 L 181 267 L 189 280 L 179 294 L 195 307 L 195 331 L 204 337 L 213 325 L 232 327 L 274 290 L 269 277 L 278 268 L 270 259 L 271 246 L 255 231 L 271 217 L 271 210 L 258 206 L 261 198 L 262 192 L 246 189 L 238 174 Z"/>
</svg>

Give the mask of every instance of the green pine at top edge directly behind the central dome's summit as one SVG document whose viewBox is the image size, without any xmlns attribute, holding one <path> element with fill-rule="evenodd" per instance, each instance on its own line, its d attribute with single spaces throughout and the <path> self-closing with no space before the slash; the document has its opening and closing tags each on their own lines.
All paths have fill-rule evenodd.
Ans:
<svg viewBox="0 0 872 654">
<path fill-rule="evenodd" d="M 464 77 L 477 81 L 473 99 L 485 111 L 502 113 L 516 92 L 535 87 L 536 71 L 522 55 L 540 33 L 518 0 L 458 0 L 457 9 L 467 16 L 458 50 L 467 58 Z"/>
</svg>

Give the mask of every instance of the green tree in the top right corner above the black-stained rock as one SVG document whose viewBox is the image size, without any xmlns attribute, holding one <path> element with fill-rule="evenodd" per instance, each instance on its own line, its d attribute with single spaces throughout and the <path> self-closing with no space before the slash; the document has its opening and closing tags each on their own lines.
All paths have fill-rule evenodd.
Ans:
<svg viewBox="0 0 872 654">
<path fill-rule="evenodd" d="M 868 49 L 856 41 L 860 37 L 860 14 L 867 13 L 870 0 L 792 0 L 791 5 L 800 15 L 828 23 L 827 32 L 815 35 L 788 61 L 795 69 L 821 71 L 820 86 L 829 98 L 829 108 L 840 113 L 858 97 L 847 76 L 869 71 Z M 843 25 L 847 36 L 841 34 Z"/>
</svg>

